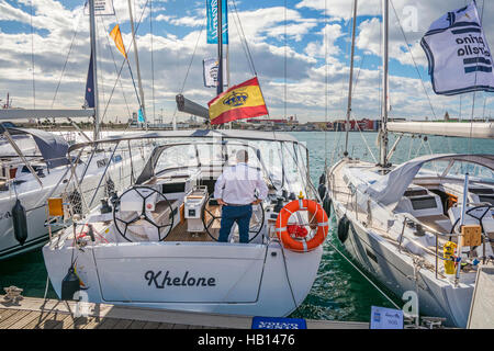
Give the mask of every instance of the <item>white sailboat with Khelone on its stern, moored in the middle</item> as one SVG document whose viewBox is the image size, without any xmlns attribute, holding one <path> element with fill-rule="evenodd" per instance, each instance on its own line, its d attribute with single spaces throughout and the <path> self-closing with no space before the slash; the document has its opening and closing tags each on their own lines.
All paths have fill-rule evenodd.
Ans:
<svg viewBox="0 0 494 351">
<path fill-rule="evenodd" d="M 217 7 L 221 29 L 222 1 Z M 222 82 L 222 39 L 218 56 Z M 218 94 L 222 89 L 218 83 Z M 206 109 L 183 95 L 177 103 L 209 120 Z M 92 208 L 43 248 L 60 298 L 248 316 L 287 316 L 302 304 L 328 230 L 303 145 L 278 133 L 193 129 L 97 146 L 130 139 L 156 145 L 136 182 L 113 197 L 110 210 Z M 222 207 L 213 190 L 239 150 L 262 174 L 268 197 L 252 206 L 248 244 L 238 242 L 236 225 L 228 242 L 218 242 Z"/>
</svg>

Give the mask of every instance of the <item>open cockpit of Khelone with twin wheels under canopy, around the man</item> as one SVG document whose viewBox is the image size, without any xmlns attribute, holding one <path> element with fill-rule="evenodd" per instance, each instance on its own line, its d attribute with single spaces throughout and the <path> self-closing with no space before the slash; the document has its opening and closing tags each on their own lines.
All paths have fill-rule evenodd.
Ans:
<svg viewBox="0 0 494 351">
<path fill-rule="evenodd" d="M 265 242 L 276 236 L 273 224 L 284 204 L 299 195 L 317 199 L 306 148 L 297 143 L 167 140 L 155 147 L 135 184 L 91 211 L 87 224 L 103 242 L 217 241 L 222 211 L 214 199 L 215 182 L 226 167 L 236 165 L 240 149 L 248 152 L 248 166 L 261 172 L 268 186 L 268 197 L 252 206 L 249 226 L 249 242 Z M 236 225 L 229 241 L 238 241 Z"/>
</svg>

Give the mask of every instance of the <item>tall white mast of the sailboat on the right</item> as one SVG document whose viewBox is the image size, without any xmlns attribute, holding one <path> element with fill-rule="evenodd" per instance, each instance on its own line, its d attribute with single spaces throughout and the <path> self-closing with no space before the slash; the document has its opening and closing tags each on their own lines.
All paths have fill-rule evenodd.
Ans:
<svg viewBox="0 0 494 351">
<path fill-rule="evenodd" d="M 381 120 L 381 131 L 380 131 L 380 165 L 381 167 L 388 167 L 388 43 L 389 43 L 389 22 L 390 22 L 390 9 L 389 0 L 382 0 L 382 120 Z"/>
</svg>

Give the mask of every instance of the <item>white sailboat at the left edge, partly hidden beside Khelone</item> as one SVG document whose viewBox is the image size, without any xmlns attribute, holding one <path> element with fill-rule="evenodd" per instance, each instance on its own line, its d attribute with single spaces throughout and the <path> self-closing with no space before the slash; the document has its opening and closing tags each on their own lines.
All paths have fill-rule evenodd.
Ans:
<svg viewBox="0 0 494 351">
<path fill-rule="evenodd" d="M 90 1 L 91 3 L 93 1 Z M 94 10 L 94 9 L 92 9 Z M 93 140 L 135 135 L 138 132 L 100 131 L 94 11 L 90 13 L 91 59 L 88 91 L 94 100 L 85 110 L 0 110 L 0 120 L 16 121 L 42 117 L 94 117 Z M 88 95 L 87 95 L 88 100 Z M 48 239 L 46 201 L 66 194 L 75 203 L 76 213 L 85 211 L 85 195 L 92 206 L 102 195 L 128 186 L 135 172 L 144 166 L 149 148 L 131 144 L 115 149 L 94 149 L 78 155 L 70 165 L 67 135 L 61 132 L 1 127 L 2 143 L 0 180 L 0 259 L 7 259 L 43 246 Z M 14 134 L 14 135 L 12 135 Z M 72 141 L 91 140 L 85 133 L 76 133 Z M 72 136 L 70 136 L 72 137 Z M 30 143 L 25 143 L 25 141 Z M 29 144 L 20 147 L 19 143 Z M 104 180 L 101 174 L 104 173 Z M 79 179 L 85 178 L 85 182 Z M 104 181 L 104 182 L 103 182 Z M 104 185 L 104 193 L 101 185 Z M 101 189 L 100 189 L 101 188 Z"/>
</svg>

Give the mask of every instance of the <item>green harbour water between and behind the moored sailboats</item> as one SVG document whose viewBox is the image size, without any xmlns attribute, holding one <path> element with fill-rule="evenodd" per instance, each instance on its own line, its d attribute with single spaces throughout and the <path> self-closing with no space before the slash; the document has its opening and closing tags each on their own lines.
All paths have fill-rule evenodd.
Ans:
<svg viewBox="0 0 494 351">
<path fill-rule="evenodd" d="M 467 125 L 468 126 L 468 125 Z M 467 127 L 465 126 L 465 127 Z M 292 133 L 300 141 L 306 143 L 310 150 L 311 178 L 317 186 L 318 177 L 325 165 L 336 162 L 343 154 L 344 133 L 299 132 Z M 379 157 L 377 133 L 350 133 L 349 154 L 366 160 Z M 394 141 L 390 138 L 390 145 Z M 370 149 L 370 150 L 369 150 Z M 472 152 L 494 155 L 494 141 L 489 139 L 423 138 L 405 137 L 400 143 L 391 161 L 400 163 L 409 158 L 430 152 Z M 333 222 L 332 234 L 336 223 Z M 329 239 L 338 249 L 337 240 Z M 46 284 L 46 270 L 41 250 L 0 261 L 0 293 L 3 287 L 15 285 L 24 290 L 24 296 L 43 297 Z M 374 281 L 374 283 L 377 283 Z M 377 283 L 379 285 L 379 283 Z M 400 296 L 379 285 L 398 305 Z M 47 297 L 56 298 L 52 287 Z M 392 307 L 392 304 L 357 272 L 328 242 L 324 246 L 317 279 L 305 302 L 292 317 L 332 320 L 369 321 L 371 306 Z"/>
</svg>

